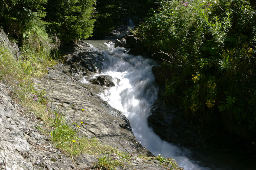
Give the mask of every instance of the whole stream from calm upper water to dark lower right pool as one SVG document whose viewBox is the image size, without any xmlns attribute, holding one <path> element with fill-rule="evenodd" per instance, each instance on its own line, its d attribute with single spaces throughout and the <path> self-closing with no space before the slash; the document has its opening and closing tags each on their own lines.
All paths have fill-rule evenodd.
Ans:
<svg viewBox="0 0 256 170">
<path fill-rule="evenodd" d="M 151 68 L 158 63 L 142 56 L 128 55 L 127 49 L 114 48 L 112 43 L 104 44 L 105 41 L 94 40 L 86 42 L 92 44 L 93 50 L 102 52 L 103 62 L 101 74 L 85 76 L 81 82 L 88 83 L 100 75 L 111 76 L 115 86 L 106 88 L 99 96 L 128 118 L 137 140 L 155 156 L 161 154 L 163 157 L 174 158 L 185 170 L 233 170 L 242 167 L 249 170 L 254 167 L 249 166 L 241 157 L 233 159 L 225 153 L 192 151 L 161 140 L 147 123 L 158 93 Z M 223 161 L 227 157 L 228 161 Z"/>
</svg>

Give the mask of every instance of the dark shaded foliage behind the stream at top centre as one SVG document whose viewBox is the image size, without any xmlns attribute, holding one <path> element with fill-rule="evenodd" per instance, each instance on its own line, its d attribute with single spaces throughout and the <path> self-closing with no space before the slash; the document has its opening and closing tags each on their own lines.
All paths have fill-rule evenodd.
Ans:
<svg viewBox="0 0 256 170">
<path fill-rule="evenodd" d="M 108 34 L 114 27 L 127 25 L 129 18 L 138 22 L 138 19 L 144 18 L 149 8 L 152 7 L 152 0 L 97 0 L 96 11 L 98 17 L 95 22 L 93 37 L 99 38 Z"/>
</svg>

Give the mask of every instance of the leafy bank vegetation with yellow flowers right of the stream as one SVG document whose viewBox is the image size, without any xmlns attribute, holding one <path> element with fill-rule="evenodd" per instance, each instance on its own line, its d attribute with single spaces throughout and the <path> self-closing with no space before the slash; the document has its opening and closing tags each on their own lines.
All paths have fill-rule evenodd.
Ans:
<svg viewBox="0 0 256 170">
<path fill-rule="evenodd" d="M 239 129 L 255 129 L 255 9 L 245 0 L 160 4 L 134 33 L 169 70 L 166 102 L 202 124 L 226 117 Z"/>
</svg>

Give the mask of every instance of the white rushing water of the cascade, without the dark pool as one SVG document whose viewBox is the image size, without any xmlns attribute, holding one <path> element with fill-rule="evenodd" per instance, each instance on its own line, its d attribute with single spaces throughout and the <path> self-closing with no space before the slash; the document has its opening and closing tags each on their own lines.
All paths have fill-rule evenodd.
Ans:
<svg viewBox="0 0 256 170">
<path fill-rule="evenodd" d="M 158 87 L 151 71 L 156 63 L 142 56 L 128 55 L 124 48 L 108 47 L 109 50 L 103 51 L 101 75 L 112 76 L 115 86 L 100 94 L 101 98 L 128 118 L 137 140 L 154 155 L 175 158 L 185 170 L 209 169 L 193 163 L 185 156 L 190 154 L 188 150 L 161 140 L 148 127 L 147 118 L 157 100 Z M 89 78 L 92 77 L 85 77 L 83 82 L 87 83 Z"/>
</svg>

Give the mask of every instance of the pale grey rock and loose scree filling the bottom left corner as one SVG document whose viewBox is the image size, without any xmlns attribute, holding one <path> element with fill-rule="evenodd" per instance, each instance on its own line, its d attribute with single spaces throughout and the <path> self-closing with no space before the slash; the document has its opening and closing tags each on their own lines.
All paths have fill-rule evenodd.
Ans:
<svg viewBox="0 0 256 170">
<path fill-rule="evenodd" d="M 24 108 L 14 103 L 3 87 L 0 84 L 1 169 L 59 170 L 60 165 L 62 169 L 72 169 L 74 165 L 70 158 L 54 148 L 48 138 L 38 132 L 37 126 L 43 122 L 33 113 L 24 113 Z"/>
</svg>

